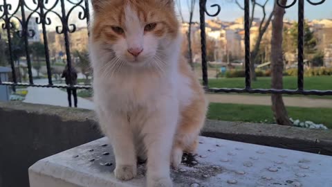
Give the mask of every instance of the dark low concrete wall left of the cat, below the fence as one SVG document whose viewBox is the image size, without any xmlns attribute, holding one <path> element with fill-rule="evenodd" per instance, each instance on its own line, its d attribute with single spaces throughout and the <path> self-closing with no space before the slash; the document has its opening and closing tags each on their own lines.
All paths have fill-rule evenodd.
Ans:
<svg viewBox="0 0 332 187">
<path fill-rule="evenodd" d="M 84 110 L 0 103 L 0 186 L 27 187 L 33 163 L 100 138 L 91 118 Z"/>
</svg>

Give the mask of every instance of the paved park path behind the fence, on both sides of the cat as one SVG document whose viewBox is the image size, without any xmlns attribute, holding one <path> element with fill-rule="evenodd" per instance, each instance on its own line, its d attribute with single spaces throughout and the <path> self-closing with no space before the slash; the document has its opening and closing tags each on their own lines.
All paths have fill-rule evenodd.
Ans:
<svg viewBox="0 0 332 187">
<path fill-rule="evenodd" d="M 46 84 L 47 79 L 35 80 L 37 84 Z M 234 103 L 244 105 L 271 105 L 270 96 L 247 96 L 235 94 L 207 94 L 211 103 Z M 82 109 L 93 109 L 91 100 L 78 97 L 78 107 Z M 57 88 L 35 88 L 28 87 L 28 94 L 24 103 L 35 103 L 43 105 L 56 105 L 68 107 L 67 93 Z M 291 107 L 323 107 L 332 109 L 332 100 L 305 98 L 305 97 L 284 97 L 286 106 Z"/>
</svg>

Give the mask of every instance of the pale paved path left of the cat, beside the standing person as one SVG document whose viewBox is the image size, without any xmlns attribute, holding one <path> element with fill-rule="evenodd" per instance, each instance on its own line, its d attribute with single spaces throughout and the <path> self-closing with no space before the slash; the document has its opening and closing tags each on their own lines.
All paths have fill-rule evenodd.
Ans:
<svg viewBox="0 0 332 187">
<path fill-rule="evenodd" d="M 34 80 L 36 84 L 46 84 L 46 79 Z M 55 105 L 68 107 L 67 92 L 57 88 L 28 87 L 28 94 L 24 103 L 35 103 L 43 105 Z M 72 98 L 73 103 L 73 98 Z M 77 97 L 77 107 L 82 109 L 93 109 L 93 102 Z"/>
</svg>

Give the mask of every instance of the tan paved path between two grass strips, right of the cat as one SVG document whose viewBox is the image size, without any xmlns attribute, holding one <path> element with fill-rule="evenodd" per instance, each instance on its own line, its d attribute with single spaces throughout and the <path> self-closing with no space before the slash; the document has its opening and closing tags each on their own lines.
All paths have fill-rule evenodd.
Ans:
<svg viewBox="0 0 332 187">
<path fill-rule="evenodd" d="M 244 105 L 271 105 L 270 96 L 246 96 L 234 94 L 207 94 L 208 100 L 212 103 L 234 103 Z M 284 97 L 284 103 L 290 107 L 323 107 L 332 109 L 332 100 L 305 98 L 305 97 Z"/>
</svg>

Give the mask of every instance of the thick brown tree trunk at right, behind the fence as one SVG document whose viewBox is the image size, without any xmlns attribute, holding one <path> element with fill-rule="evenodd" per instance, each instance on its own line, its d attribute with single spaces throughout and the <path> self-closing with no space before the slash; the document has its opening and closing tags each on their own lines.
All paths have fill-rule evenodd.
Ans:
<svg viewBox="0 0 332 187">
<path fill-rule="evenodd" d="M 286 5 L 287 0 L 280 2 Z M 284 71 L 284 61 L 282 57 L 282 30 L 284 19 L 284 8 L 275 6 L 275 17 L 272 21 L 272 39 L 271 39 L 271 70 L 272 70 L 272 88 L 282 89 L 282 72 Z M 272 94 L 272 110 L 275 121 L 279 125 L 291 125 L 282 94 Z"/>
</svg>

